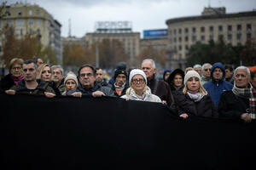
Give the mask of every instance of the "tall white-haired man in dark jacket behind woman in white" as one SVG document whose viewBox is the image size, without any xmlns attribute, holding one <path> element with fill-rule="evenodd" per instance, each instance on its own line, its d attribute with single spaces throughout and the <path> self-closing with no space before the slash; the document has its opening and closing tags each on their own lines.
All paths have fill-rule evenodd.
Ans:
<svg viewBox="0 0 256 170">
<path fill-rule="evenodd" d="M 142 70 L 145 72 L 148 80 L 148 87 L 151 93 L 160 97 L 162 101 L 166 101 L 168 106 L 172 105 L 173 97 L 172 91 L 167 82 L 157 80 L 155 77 L 156 68 L 153 59 L 144 59 L 142 63 Z"/>
</svg>

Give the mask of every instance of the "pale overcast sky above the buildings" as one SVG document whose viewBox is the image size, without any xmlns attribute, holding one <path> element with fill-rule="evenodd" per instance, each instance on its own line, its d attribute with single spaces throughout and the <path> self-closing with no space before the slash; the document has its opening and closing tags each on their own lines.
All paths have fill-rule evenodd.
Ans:
<svg viewBox="0 0 256 170">
<path fill-rule="evenodd" d="M 0 0 L 3 2 L 6 0 Z M 252 11 L 256 0 L 7 0 L 38 4 L 46 9 L 61 27 L 61 36 L 68 36 L 68 19 L 71 34 L 83 37 L 95 31 L 96 21 L 131 21 L 132 31 L 143 36 L 143 30 L 166 29 L 166 20 L 200 15 L 203 8 L 225 7 L 226 13 Z"/>
</svg>

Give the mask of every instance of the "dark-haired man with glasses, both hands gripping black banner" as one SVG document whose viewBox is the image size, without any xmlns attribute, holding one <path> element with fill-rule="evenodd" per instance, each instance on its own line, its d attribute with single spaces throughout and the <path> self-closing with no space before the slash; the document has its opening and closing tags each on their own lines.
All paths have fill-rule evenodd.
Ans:
<svg viewBox="0 0 256 170">
<path fill-rule="evenodd" d="M 111 88 L 102 87 L 99 83 L 96 83 L 96 69 L 92 65 L 82 65 L 79 68 L 79 86 L 68 91 L 67 95 L 72 95 L 73 97 L 82 97 L 83 95 L 114 97 Z"/>
</svg>

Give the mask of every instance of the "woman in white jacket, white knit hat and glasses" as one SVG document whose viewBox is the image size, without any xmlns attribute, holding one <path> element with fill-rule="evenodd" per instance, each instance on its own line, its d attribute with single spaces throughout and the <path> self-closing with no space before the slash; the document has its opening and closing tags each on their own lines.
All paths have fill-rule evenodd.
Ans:
<svg viewBox="0 0 256 170">
<path fill-rule="evenodd" d="M 161 103 L 158 96 L 151 94 L 151 90 L 147 86 L 147 77 L 142 70 L 133 69 L 130 72 L 129 84 L 131 87 L 127 88 L 125 95 L 121 98 Z"/>
</svg>

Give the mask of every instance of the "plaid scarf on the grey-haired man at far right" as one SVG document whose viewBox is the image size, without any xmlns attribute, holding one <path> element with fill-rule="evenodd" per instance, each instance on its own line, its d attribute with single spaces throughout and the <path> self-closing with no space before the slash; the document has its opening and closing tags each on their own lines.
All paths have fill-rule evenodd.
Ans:
<svg viewBox="0 0 256 170">
<path fill-rule="evenodd" d="M 241 98 L 249 99 L 249 115 L 251 116 L 252 119 L 256 119 L 256 91 L 252 88 L 252 85 L 250 83 L 249 86 L 250 88 L 237 88 L 236 84 L 234 84 L 232 92 Z"/>
</svg>

